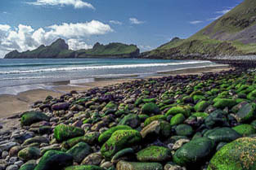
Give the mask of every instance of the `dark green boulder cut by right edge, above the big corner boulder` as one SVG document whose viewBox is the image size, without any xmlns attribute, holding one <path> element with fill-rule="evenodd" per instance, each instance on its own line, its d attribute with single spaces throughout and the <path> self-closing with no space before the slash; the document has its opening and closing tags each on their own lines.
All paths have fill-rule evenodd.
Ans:
<svg viewBox="0 0 256 170">
<path fill-rule="evenodd" d="M 254 120 L 256 118 L 256 103 L 251 102 L 241 107 L 236 116 L 237 120 L 242 123 Z"/>
</svg>

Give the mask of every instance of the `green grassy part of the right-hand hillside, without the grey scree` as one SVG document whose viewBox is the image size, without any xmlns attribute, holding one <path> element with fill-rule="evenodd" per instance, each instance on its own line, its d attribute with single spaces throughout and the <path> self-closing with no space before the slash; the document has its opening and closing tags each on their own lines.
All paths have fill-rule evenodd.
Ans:
<svg viewBox="0 0 256 170">
<path fill-rule="evenodd" d="M 150 51 L 149 55 L 161 57 L 172 54 L 256 54 L 256 43 L 244 44 L 240 40 L 228 41 L 234 33 L 239 33 L 246 26 L 255 24 L 255 21 L 249 23 L 256 15 L 255 7 L 255 0 L 245 0 L 195 35 L 185 40 L 170 41 Z"/>
</svg>

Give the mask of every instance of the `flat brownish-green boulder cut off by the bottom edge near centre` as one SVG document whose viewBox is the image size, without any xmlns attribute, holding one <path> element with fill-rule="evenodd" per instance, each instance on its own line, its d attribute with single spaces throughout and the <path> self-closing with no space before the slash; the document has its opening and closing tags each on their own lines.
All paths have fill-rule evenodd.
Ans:
<svg viewBox="0 0 256 170">
<path fill-rule="evenodd" d="M 160 163 L 137 163 L 119 161 L 116 165 L 117 170 L 163 170 L 163 166 Z"/>
</svg>

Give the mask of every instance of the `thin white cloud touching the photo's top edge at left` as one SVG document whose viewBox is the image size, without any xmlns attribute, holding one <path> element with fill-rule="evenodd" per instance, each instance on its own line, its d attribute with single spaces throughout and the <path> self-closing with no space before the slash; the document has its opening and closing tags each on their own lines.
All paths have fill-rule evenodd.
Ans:
<svg viewBox="0 0 256 170">
<path fill-rule="evenodd" d="M 83 2 L 82 0 L 36 0 L 36 2 L 26 2 L 34 6 L 74 6 L 74 8 L 91 8 L 95 9 L 91 3 Z"/>
</svg>

